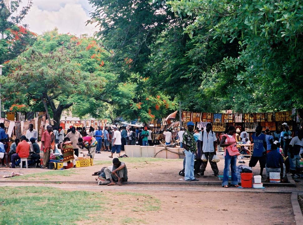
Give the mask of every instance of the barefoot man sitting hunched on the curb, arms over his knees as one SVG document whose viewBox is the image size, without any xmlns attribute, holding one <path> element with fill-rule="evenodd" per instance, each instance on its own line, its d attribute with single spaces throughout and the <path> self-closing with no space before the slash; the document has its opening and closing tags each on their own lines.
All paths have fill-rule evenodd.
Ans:
<svg viewBox="0 0 303 225">
<path fill-rule="evenodd" d="M 113 158 L 113 168 L 104 169 L 105 178 L 110 181 L 108 186 L 116 185 L 115 181 L 118 181 L 118 185 L 122 185 L 122 182 L 127 182 L 127 168 L 124 162 L 120 162 L 118 158 Z"/>
</svg>

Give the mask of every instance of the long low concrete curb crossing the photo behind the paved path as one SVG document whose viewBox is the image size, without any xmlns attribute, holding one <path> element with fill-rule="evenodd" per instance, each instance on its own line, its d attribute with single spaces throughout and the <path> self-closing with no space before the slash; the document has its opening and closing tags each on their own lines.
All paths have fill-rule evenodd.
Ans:
<svg viewBox="0 0 303 225">
<path fill-rule="evenodd" d="M 293 181 L 294 182 L 294 181 Z M 96 184 L 96 181 L 29 181 L 29 180 L 1 180 L 0 183 L 66 183 L 66 184 Z M 222 185 L 221 181 L 177 181 L 177 182 L 127 182 L 128 185 Z M 296 187 L 296 183 L 263 183 L 265 187 Z"/>
</svg>

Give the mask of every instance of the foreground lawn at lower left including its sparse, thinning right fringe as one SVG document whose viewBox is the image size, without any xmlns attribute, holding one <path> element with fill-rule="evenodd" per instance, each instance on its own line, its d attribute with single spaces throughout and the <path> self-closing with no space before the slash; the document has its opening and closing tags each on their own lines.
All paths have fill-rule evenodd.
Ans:
<svg viewBox="0 0 303 225">
<path fill-rule="evenodd" d="M 127 197 L 133 208 L 121 207 L 128 216 L 121 217 L 121 224 L 146 223 L 136 218 L 136 213 L 159 211 L 160 200 L 133 192 L 88 192 L 65 191 L 52 187 L 2 187 L 0 189 L 0 225 L 70 225 L 78 221 L 83 224 L 110 224 L 111 215 L 102 212 L 113 209 L 115 201 Z M 82 223 L 81 222 L 81 223 Z"/>
</svg>

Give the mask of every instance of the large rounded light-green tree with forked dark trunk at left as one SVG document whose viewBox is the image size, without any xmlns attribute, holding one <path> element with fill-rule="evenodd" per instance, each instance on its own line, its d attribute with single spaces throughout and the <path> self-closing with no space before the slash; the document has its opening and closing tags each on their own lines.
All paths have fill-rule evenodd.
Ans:
<svg viewBox="0 0 303 225">
<path fill-rule="evenodd" d="M 47 32 L 7 64 L 4 100 L 26 102 L 29 106 L 43 103 L 46 111 L 51 109 L 56 122 L 72 105 L 78 115 L 97 115 L 99 93 L 110 77 L 103 68 L 103 54 L 91 38 Z M 92 108 L 94 111 L 90 111 Z"/>
</svg>

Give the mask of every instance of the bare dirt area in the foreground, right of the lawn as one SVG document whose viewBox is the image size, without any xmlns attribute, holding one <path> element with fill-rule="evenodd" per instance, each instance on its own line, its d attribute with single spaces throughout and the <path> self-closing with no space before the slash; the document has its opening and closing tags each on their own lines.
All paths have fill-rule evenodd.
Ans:
<svg viewBox="0 0 303 225">
<path fill-rule="evenodd" d="M 140 204 L 140 197 L 123 201 L 122 209 L 114 208 L 104 212 L 104 215 L 119 215 L 119 217 L 135 217 L 147 224 L 245 224 L 273 225 L 295 224 L 292 212 L 290 194 L 235 193 L 235 192 L 148 192 L 160 200 L 159 211 L 134 212 Z M 120 197 L 120 196 L 119 196 Z M 120 205 L 120 204 L 119 204 Z M 285 215 L 281 217 L 281 215 Z M 253 219 L 252 219 L 253 218 Z M 121 224 L 108 222 L 108 224 Z M 141 224 L 139 222 L 138 224 Z"/>
</svg>

